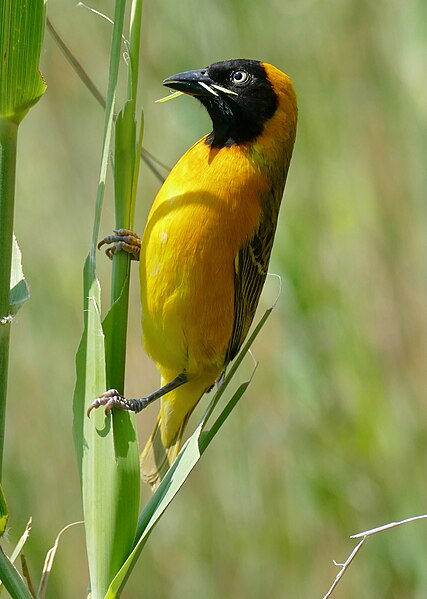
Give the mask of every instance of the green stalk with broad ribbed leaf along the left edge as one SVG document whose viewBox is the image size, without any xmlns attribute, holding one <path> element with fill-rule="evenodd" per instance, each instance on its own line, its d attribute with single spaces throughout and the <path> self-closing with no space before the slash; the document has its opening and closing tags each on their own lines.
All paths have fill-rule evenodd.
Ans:
<svg viewBox="0 0 427 599">
<path fill-rule="evenodd" d="M 10 307 L 18 124 L 46 89 L 39 73 L 43 0 L 0 2 L 0 479 L 3 463 L 11 321 L 25 299 L 25 282 Z"/>
</svg>

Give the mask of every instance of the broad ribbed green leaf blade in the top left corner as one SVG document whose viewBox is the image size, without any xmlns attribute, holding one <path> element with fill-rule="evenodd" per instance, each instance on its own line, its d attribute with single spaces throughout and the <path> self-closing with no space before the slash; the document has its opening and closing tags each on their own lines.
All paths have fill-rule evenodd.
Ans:
<svg viewBox="0 0 427 599">
<path fill-rule="evenodd" d="M 0 117 L 19 123 L 43 95 L 38 70 L 45 26 L 43 0 L 0 2 Z"/>
</svg>

